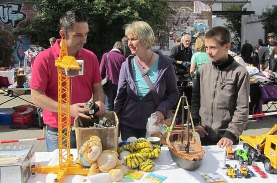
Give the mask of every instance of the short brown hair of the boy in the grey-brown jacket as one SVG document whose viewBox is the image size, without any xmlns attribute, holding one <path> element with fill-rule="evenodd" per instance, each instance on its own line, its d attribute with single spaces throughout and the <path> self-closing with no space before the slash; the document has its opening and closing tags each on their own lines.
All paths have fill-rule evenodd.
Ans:
<svg viewBox="0 0 277 183">
<path fill-rule="evenodd" d="M 231 35 L 228 29 L 223 26 L 213 27 L 209 31 L 207 31 L 204 35 L 204 38 L 214 38 L 216 39 L 222 46 L 231 42 Z"/>
</svg>

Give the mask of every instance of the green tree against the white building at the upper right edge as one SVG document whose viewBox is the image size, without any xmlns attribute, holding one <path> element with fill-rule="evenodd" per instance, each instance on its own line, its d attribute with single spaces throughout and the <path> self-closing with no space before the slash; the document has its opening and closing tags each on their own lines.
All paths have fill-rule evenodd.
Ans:
<svg viewBox="0 0 277 183">
<path fill-rule="evenodd" d="M 261 20 L 265 32 L 276 32 L 277 30 L 277 5 L 272 5 L 272 8 L 262 10 L 261 15 L 258 16 Z"/>
</svg>

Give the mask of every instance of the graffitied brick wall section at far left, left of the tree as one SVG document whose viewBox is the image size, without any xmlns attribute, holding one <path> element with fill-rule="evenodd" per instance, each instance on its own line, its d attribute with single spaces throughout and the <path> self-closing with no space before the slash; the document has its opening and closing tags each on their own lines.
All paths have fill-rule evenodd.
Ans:
<svg viewBox="0 0 277 183">
<path fill-rule="evenodd" d="M 4 50 L 0 51 L 0 65 L 7 66 L 10 63 L 24 65 L 24 51 L 28 49 L 30 40 L 24 34 L 16 35 L 14 31 L 36 15 L 34 6 L 34 3 L 28 2 L 0 3 L 0 40 L 2 40 L 0 48 Z M 13 51 L 10 54 L 11 49 Z"/>
</svg>

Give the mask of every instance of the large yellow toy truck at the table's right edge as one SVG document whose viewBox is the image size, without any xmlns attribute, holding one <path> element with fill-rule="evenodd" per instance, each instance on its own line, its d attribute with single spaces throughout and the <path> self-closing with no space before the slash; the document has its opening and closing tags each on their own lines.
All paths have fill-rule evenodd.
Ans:
<svg viewBox="0 0 277 183">
<path fill-rule="evenodd" d="M 267 173 L 277 173 L 277 125 L 260 136 L 239 136 L 243 148 L 253 161 L 260 160 Z"/>
</svg>

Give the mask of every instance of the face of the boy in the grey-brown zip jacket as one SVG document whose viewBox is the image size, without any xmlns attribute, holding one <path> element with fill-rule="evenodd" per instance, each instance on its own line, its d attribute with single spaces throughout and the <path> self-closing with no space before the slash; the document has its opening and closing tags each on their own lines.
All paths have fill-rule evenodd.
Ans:
<svg viewBox="0 0 277 183">
<path fill-rule="evenodd" d="M 230 43 L 221 45 L 214 38 L 205 38 L 206 53 L 209 55 L 212 62 L 216 62 L 221 59 L 228 58 L 228 49 L 230 48 Z"/>
</svg>

